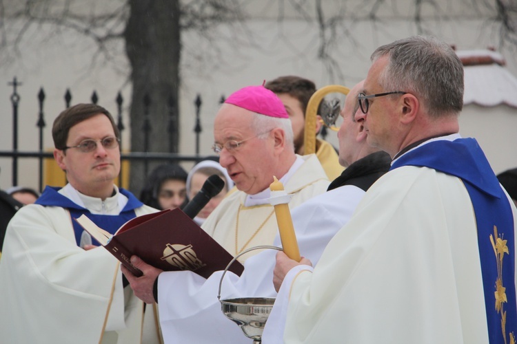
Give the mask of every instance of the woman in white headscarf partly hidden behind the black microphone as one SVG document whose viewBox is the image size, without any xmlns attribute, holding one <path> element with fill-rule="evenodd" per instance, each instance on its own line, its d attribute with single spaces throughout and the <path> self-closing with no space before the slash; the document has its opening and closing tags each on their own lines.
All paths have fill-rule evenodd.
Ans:
<svg viewBox="0 0 517 344">
<path fill-rule="evenodd" d="M 224 180 L 225 186 L 223 190 L 221 190 L 218 195 L 212 197 L 210 202 L 194 217 L 194 221 L 199 224 L 199 226 L 203 224 L 208 215 L 214 211 L 216 206 L 221 203 L 228 191 L 234 186 L 234 182 L 230 179 L 230 175 L 228 175 L 226 169 L 221 166 L 219 162 L 209 158 L 208 160 L 197 163 L 187 175 L 187 197 L 190 200 L 199 193 L 201 187 L 210 175 L 219 175 L 219 177 Z"/>
</svg>

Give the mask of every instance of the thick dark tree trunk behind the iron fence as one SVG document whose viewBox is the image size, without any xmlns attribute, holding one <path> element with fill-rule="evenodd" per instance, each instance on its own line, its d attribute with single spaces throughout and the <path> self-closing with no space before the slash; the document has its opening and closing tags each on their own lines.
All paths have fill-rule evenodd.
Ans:
<svg viewBox="0 0 517 344">
<path fill-rule="evenodd" d="M 131 64 L 130 109 L 132 151 L 178 151 L 179 116 L 170 122 L 168 104 L 179 91 L 179 0 L 129 0 L 130 18 L 125 28 L 125 50 Z M 147 104 L 147 105 L 146 105 Z M 146 118 L 149 120 L 145 140 Z M 172 126 L 171 126 L 172 124 Z M 172 127 L 172 132 L 169 132 Z M 155 164 L 145 171 L 143 162 L 131 162 L 130 190 L 138 197 Z"/>
</svg>

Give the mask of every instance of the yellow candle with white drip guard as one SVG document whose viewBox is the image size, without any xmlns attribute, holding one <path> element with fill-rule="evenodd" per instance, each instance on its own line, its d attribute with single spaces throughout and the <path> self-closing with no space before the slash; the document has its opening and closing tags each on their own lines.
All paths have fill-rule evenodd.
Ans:
<svg viewBox="0 0 517 344">
<path fill-rule="evenodd" d="M 291 196 L 287 195 L 284 191 L 283 184 L 279 182 L 275 176 L 273 176 L 273 178 L 274 182 L 270 184 L 270 203 L 274 206 L 283 251 L 287 257 L 295 261 L 300 261 L 300 251 L 298 250 L 298 243 L 296 242 L 296 234 L 294 233 L 294 226 L 292 225 L 291 212 L 288 204 Z"/>
</svg>

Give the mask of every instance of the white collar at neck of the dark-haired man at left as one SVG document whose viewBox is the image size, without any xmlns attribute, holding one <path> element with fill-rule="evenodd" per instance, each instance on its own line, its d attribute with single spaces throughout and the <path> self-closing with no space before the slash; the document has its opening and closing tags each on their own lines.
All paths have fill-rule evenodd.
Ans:
<svg viewBox="0 0 517 344">
<path fill-rule="evenodd" d="M 105 200 L 98 197 L 90 197 L 80 193 L 70 184 L 66 184 L 63 189 L 59 191 L 65 197 L 68 197 L 72 202 L 87 208 L 92 214 L 101 215 L 119 215 L 126 204 L 128 204 L 128 197 L 119 193 L 119 189 L 114 187 L 114 195 Z"/>
</svg>

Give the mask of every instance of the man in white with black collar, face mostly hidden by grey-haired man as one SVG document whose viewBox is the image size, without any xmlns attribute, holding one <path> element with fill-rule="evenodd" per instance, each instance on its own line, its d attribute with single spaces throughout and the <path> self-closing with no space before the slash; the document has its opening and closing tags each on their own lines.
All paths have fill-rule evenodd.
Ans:
<svg viewBox="0 0 517 344">
<path fill-rule="evenodd" d="M 356 96 L 362 83 L 345 101 L 343 125 L 338 133 L 340 162 L 347 169 L 329 186 L 329 191 L 313 197 L 292 210 L 296 239 L 301 253 L 318 261 L 323 248 L 336 230 L 345 224 L 365 190 L 389 169 L 389 155 L 369 147 L 363 127 L 353 121 Z M 278 230 L 274 246 L 281 246 Z M 275 297 L 271 282 L 275 250 L 263 250 L 245 261 L 241 277 L 226 272 L 221 299 Z M 223 272 L 203 279 L 194 272 L 163 272 L 157 297 L 166 343 L 249 343 L 241 329 L 221 312 L 216 295 Z M 199 328 L 203 330 L 200 331 Z"/>
</svg>

